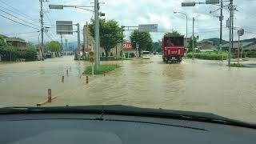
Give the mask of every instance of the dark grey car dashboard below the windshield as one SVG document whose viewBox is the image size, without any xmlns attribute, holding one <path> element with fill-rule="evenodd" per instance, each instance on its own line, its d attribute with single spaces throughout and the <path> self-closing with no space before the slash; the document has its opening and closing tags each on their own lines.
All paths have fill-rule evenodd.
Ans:
<svg viewBox="0 0 256 144">
<path fill-rule="evenodd" d="M 114 114 L 0 115 L 0 143 L 255 143 L 256 130 Z"/>
</svg>

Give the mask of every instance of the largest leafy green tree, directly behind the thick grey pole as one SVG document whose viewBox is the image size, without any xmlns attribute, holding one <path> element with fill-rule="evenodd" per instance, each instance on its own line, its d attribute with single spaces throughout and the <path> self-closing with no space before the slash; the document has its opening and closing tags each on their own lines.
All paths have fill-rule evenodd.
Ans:
<svg viewBox="0 0 256 144">
<path fill-rule="evenodd" d="M 94 19 L 89 25 L 90 34 L 94 37 Z M 99 22 L 99 38 L 100 46 L 105 50 L 105 56 L 108 56 L 109 51 L 122 42 L 122 29 L 118 26 L 118 22 L 114 20 L 100 19 Z"/>
</svg>

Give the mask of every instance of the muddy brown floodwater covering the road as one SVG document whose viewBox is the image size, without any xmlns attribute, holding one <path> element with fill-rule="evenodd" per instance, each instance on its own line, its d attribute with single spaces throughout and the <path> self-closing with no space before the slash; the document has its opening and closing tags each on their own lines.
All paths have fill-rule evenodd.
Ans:
<svg viewBox="0 0 256 144">
<path fill-rule="evenodd" d="M 44 62 L 0 62 L 0 106 L 35 106 L 46 99 L 51 88 L 53 96 L 59 97 L 46 106 L 118 104 L 211 112 L 256 122 L 256 68 L 229 68 L 226 62 L 189 59 L 165 64 L 161 56 L 102 63 L 122 67 L 106 77 L 90 77 L 86 84 L 82 72 L 89 63 L 75 62 L 73 56 Z"/>
</svg>

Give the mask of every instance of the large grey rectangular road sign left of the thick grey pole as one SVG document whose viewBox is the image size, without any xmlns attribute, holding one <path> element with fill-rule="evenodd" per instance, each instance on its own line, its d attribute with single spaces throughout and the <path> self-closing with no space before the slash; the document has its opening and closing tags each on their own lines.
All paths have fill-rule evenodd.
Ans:
<svg viewBox="0 0 256 144">
<path fill-rule="evenodd" d="M 72 21 L 56 21 L 57 34 L 73 34 Z"/>
</svg>

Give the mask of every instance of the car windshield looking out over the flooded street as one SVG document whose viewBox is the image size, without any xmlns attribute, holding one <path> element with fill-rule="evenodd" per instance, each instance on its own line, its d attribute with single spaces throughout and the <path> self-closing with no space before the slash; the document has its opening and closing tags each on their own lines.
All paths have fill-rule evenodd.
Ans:
<svg viewBox="0 0 256 144">
<path fill-rule="evenodd" d="M 256 2 L 193 2 L 0 0 L 0 106 L 126 105 L 256 122 Z"/>
</svg>

